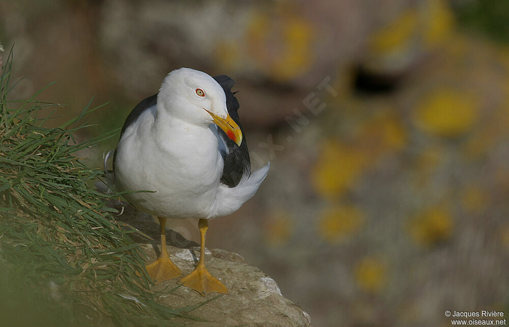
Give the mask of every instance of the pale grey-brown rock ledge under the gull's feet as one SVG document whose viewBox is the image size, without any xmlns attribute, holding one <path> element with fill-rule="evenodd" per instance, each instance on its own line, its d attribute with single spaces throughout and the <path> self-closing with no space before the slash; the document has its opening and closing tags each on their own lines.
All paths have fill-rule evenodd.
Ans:
<svg viewBox="0 0 509 327">
<path fill-rule="evenodd" d="M 141 244 L 142 249 L 155 260 L 158 253 L 152 244 Z M 194 269 L 200 256 L 200 248 L 181 249 L 168 245 L 172 261 L 184 274 Z M 250 266 L 244 258 L 232 252 L 218 249 L 205 251 L 209 272 L 221 280 L 230 294 L 221 295 L 190 314 L 201 321 L 183 321 L 188 326 L 311 326 L 309 315 L 297 304 L 282 296 L 276 282 L 257 267 Z M 173 289 L 179 279 L 164 281 L 153 286 L 154 291 Z M 160 294 L 160 293 L 158 293 Z M 180 308 L 201 303 L 217 296 L 205 296 L 187 288 L 180 287 L 172 293 L 158 296 L 157 302 Z"/>
</svg>

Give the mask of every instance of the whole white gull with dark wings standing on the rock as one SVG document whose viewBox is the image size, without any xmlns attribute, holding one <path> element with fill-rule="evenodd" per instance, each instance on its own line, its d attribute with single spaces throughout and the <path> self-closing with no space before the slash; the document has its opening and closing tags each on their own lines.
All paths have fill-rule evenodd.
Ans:
<svg viewBox="0 0 509 327">
<path fill-rule="evenodd" d="M 166 250 L 166 219 L 199 219 L 200 260 L 180 282 L 202 295 L 228 293 L 205 266 L 208 221 L 237 211 L 265 179 L 270 162 L 251 172 L 239 102 L 227 75 L 180 68 L 159 93 L 127 117 L 115 149 L 114 183 L 136 209 L 158 217 L 161 252 L 146 266 L 156 282 L 181 277 Z"/>
</svg>

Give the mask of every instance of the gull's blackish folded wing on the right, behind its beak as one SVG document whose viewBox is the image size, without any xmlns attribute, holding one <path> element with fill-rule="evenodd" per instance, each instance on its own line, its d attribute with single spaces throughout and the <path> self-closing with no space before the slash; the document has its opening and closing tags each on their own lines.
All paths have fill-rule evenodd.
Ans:
<svg viewBox="0 0 509 327">
<path fill-rule="evenodd" d="M 242 128 L 239 120 L 239 101 L 237 101 L 235 95 L 231 91 L 235 81 L 227 75 L 218 75 L 215 76 L 214 79 L 224 90 L 228 114 L 237 123 L 237 125 L 239 125 L 240 130 L 242 131 L 242 143 L 239 147 L 235 142 L 230 140 L 225 132 L 223 132 L 220 128 L 217 129 L 225 146 L 225 150 L 221 151 L 221 156 L 224 160 L 221 182 L 229 187 L 235 187 L 239 184 L 242 176 L 245 174 L 249 175 L 251 171 L 249 150 L 247 149 L 244 129 Z"/>
</svg>

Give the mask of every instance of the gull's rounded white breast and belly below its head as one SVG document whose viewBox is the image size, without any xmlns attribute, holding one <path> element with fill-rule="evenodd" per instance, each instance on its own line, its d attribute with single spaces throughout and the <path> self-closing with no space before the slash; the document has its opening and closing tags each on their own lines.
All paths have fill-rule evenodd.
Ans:
<svg viewBox="0 0 509 327">
<path fill-rule="evenodd" d="M 125 196 L 155 216 L 208 217 L 223 169 L 216 129 L 160 114 L 156 124 L 156 116 L 153 106 L 122 134 L 115 156 L 119 190 L 155 191 Z"/>
</svg>

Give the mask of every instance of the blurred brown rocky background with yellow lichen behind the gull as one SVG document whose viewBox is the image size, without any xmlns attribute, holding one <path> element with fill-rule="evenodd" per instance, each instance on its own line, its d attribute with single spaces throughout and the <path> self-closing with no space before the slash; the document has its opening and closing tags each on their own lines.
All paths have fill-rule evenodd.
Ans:
<svg viewBox="0 0 509 327">
<path fill-rule="evenodd" d="M 316 326 L 448 326 L 509 314 L 509 2 L 2 0 L 11 99 L 109 102 L 119 128 L 171 70 L 236 80 L 271 170 L 207 246 L 274 278 Z M 91 149 L 100 167 L 104 151 Z M 196 222 L 168 227 L 198 240 Z"/>
</svg>

